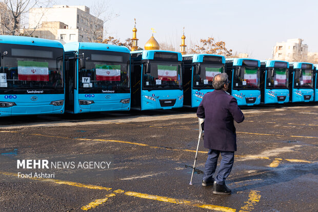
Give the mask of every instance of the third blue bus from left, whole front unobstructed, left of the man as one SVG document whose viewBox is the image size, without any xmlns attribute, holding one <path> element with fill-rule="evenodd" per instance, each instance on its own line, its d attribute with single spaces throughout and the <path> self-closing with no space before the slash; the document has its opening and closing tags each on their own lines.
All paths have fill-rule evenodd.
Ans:
<svg viewBox="0 0 318 212">
<path fill-rule="evenodd" d="M 131 52 L 131 108 L 137 110 L 183 107 L 180 52 Z"/>
</svg>

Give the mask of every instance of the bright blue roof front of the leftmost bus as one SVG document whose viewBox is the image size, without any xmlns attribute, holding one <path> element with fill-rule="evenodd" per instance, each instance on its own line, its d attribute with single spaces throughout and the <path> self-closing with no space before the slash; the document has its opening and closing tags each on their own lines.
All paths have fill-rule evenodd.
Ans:
<svg viewBox="0 0 318 212">
<path fill-rule="evenodd" d="M 48 40 L 37 37 L 25 37 L 15 35 L 0 35 L 0 42 L 4 44 L 20 44 L 29 46 L 44 46 L 62 48 L 63 45 L 59 41 Z"/>
</svg>

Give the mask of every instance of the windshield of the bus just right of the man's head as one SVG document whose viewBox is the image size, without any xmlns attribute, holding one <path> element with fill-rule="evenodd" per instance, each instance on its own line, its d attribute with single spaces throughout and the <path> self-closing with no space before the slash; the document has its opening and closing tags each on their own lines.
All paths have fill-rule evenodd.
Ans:
<svg viewBox="0 0 318 212">
<path fill-rule="evenodd" d="M 239 89 L 259 89 L 260 68 L 237 66 L 235 68 L 233 87 Z"/>
</svg>

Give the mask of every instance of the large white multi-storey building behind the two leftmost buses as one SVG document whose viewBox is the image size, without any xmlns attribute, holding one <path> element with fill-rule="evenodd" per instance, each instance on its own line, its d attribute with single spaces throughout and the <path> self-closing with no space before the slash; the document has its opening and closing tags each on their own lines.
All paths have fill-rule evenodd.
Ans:
<svg viewBox="0 0 318 212">
<path fill-rule="evenodd" d="M 103 25 L 104 22 L 91 15 L 86 6 L 54 5 L 31 9 L 29 29 L 25 30 L 32 36 L 62 43 L 95 42 L 103 40 Z"/>
</svg>

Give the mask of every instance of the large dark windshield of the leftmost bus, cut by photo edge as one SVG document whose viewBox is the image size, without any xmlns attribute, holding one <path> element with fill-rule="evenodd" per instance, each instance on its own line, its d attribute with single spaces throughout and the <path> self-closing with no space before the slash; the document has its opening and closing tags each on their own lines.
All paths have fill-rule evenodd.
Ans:
<svg viewBox="0 0 318 212">
<path fill-rule="evenodd" d="M 62 48 L 2 44 L 0 93 L 61 93 L 64 91 Z M 56 92 L 55 92 L 56 91 Z"/>
</svg>

